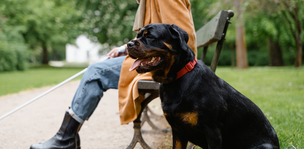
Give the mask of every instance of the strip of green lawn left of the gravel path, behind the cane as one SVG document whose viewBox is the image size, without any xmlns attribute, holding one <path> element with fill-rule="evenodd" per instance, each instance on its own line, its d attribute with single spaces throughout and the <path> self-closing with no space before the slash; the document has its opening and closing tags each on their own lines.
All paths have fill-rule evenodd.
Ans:
<svg viewBox="0 0 304 149">
<path fill-rule="evenodd" d="M 59 84 L 83 69 L 45 66 L 26 71 L 0 72 L 0 96 Z M 81 79 L 81 76 L 74 80 Z"/>
</svg>

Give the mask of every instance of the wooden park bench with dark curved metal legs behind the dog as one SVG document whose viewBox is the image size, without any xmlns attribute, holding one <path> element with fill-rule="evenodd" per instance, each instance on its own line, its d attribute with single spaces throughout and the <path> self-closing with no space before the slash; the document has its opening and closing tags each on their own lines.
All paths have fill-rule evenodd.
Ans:
<svg viewBox="0 0 304 149">
<path fill-rule="evenodd" d="M 221 10 L 212 20 L 210 20 L 202 28 L 196 31 L 197 47 L 204 47 L 201 56 L 202 61 L 205 59 L 208 45 L 217 42 L 217 47 L 210 66 L 210 69 L 213 72 L 216 70 L 228 25 L 231 23 L 230 18 L 233 17 L 233 15 L 234 12 L 232 10 Z M 146 97 L 145 100 L 141 103 L 141 111 L 137 116 L 137 119 L 133 121 L 134 136 L 131 144 L 129 147 L 127 147 L 127 149 L 133 149 L 137 142 L 139 142 L 144 149 L 151 149 L 151 147 L 147 145 L 141 136 L 141 126 L 143 122 L 147 121 L 153 129 L 160 130 L 150 121 L 150 118 L 147 115 L 147 111 L 149 111 L 147 107 L 148 103 L 150 103 L 153 99 L 159 97 L 159 83 L 156 83 L 154 81 L 141 80 L 138 82 L 137 88 L 139 94 L 141 94 L 143 97 L 145 97 L 147 93 L 150 94 L 150 96 Z M 143 122 L 141 122 L 142 113 L 144 113 L 142 116 Z M 164 129 L 164 131 L 166 131 L 166 129 Z M 190 145 L 189 148 L 191 149 L 192 146 L 193 145 Z"/>
</svg>

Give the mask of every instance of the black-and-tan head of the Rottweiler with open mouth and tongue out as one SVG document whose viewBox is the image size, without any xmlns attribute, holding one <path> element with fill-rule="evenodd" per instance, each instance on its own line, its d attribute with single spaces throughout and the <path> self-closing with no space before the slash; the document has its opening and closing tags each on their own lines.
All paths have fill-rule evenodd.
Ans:
<svg viewBox="0 0 304 149">
<path fill-rule="evenodd" d="M 150 72 L 154 81 L 166 84 L 176 79 L 176 73 L 189 61 L 194 52 L 188 46 L 189 36 L 177 25 L 149 24 L 127 43 L 127 53 L 137 59 L 130 71 Z"/>
</svg>

